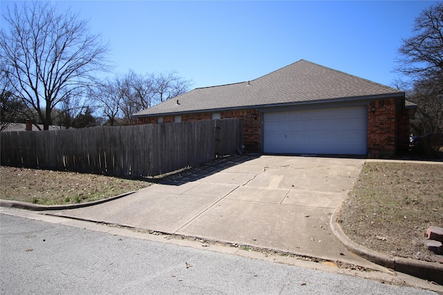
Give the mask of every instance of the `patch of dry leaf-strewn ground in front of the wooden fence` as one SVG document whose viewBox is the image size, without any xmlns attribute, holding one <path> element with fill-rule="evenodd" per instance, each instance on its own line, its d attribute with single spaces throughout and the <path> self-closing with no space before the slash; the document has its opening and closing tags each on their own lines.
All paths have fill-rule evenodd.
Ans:
<svg viewBox="0 0 443 295">
<path fill-rule="evenodd" d="M 0 198 L 34 204 L 74 204 L 118 196 L 149 187 L 149 179 L 0 167 Z"/>
</svg>

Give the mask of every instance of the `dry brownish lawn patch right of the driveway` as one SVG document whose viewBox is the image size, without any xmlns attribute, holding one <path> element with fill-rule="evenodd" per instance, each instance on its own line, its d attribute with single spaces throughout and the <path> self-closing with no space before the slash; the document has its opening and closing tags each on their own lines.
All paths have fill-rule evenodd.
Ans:
<svg viewBox="0 0 443 295">
<path fill-rule="evenodd" d="M 368 162 L 338 220 L 354 242 L 392 256 L 435 261 L 426 229 L 443 227 L 443 164 Z"/>
</svg>

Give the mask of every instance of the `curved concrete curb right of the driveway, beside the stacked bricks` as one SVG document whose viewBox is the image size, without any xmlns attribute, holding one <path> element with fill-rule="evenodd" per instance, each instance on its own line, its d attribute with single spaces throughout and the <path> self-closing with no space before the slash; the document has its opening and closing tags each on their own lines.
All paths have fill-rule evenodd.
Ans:
<svg viewBox="0 0 443 295">
<path fill-rule="evenodd" d="M 373 263 L 394 269 L 397 272 L 410 274 L 411 276 L 423 278 L 424 280 L 431 280 L 437 284 L 443 285 L 443 265 L 440 263 L 431 263 L 428 261 L 411 258 L 388 256 L 386 254 L 363 247 L 350 240 L 350 238 L 347 238 L 343 232 L 343 229 L 341 229 L 341 226 L 336 222 L 338 211 L 340 211 L 340 208 L 337 208 L 331 216 L 331 230 L 336 238 L 338 238 L 338 240 L 340 240 L 340 242 L 345 245 L 349 251 L 368 259 Z"/>
</svg>

